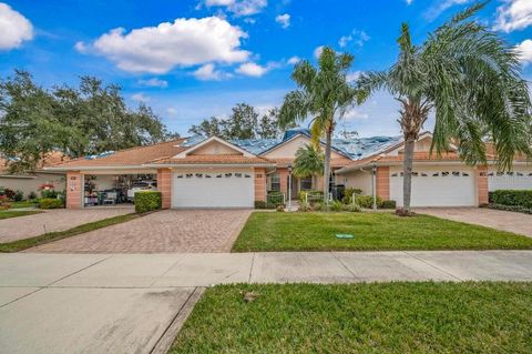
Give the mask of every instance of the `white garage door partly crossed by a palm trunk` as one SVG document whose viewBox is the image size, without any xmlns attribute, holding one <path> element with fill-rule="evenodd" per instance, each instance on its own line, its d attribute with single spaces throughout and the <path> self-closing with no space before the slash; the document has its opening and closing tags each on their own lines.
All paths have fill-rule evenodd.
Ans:
<svg viewBox="0 0 532 354">
<path fill-rule="evenodd" d="M 402 206 L 402 172 L 390 169 L 390 199 Z M 412 206 L 473 206 L 477 204 L 474 170 L 419 168 L 412 175 Z"/>
</svg>

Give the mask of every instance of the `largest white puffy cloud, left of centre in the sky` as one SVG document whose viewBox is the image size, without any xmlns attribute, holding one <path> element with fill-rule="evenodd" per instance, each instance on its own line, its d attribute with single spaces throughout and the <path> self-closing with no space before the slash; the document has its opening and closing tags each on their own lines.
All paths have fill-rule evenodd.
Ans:
<svg viewBox="0 0 532 354">
<path fill-rule="evenodd" d="M 247 33 L 217 17 L 176 19 L 157 27 L 144 27 L 126 33 L 116 28 L 98 38 L 90 48 L 76 48 L 104 55 L 129 72 L 166 73 L 175 67 L 207 62 L 246 61 L 249 52 L 241 49 Z"/>
</svg>

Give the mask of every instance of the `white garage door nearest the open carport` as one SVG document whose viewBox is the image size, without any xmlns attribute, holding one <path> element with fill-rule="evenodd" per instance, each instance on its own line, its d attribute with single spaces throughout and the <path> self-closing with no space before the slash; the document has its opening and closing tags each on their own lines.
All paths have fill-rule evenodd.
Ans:
<svg viewBox="0 0 532 354">
<path fill-rule="evenodd" d="M 172 208 L 253 208 L 254 199 L 249 170 L 172 174 Z"/>
</svg>

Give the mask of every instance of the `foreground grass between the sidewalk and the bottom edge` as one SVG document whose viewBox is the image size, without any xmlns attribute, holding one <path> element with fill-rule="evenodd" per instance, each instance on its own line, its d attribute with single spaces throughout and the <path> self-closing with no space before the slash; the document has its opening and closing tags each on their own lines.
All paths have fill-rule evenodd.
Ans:
<svg viewBox="0 0 532 354">
<path fill-rule="evenodd" d="M 170 353 L 531 348 L 532 283 L 238 284 L 207 289 Z"/>
</svg>

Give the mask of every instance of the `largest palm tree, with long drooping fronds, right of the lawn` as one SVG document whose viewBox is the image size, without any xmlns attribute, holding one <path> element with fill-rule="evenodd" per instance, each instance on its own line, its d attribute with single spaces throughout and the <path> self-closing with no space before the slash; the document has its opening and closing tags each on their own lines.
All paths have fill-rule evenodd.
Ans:
<svg viewBox="0 0 532 354">
<path fill-rule="evenodd" d="M 510 169 L 515 153 L 532 156 L 531 102 L 526 82 L 519 75 L 519 53 L 471 19 L 484 6 L 475 3 L 458 13 L 420 45 L 412 44 L 403 23 L 397 62 L 358 81 L 367 95 L 383 88 L 401 104 L 405 215 L 410 214 L 415 142 L 431 112 L 436 124 L 430 151 L 436 149 L 437 155 L 453 143 L 466 163 L 483 164 L 489 139 L 500 169 Z"/>
</svg>

